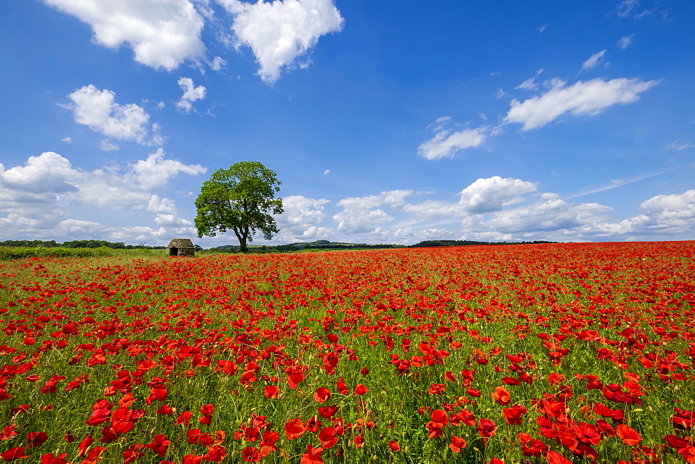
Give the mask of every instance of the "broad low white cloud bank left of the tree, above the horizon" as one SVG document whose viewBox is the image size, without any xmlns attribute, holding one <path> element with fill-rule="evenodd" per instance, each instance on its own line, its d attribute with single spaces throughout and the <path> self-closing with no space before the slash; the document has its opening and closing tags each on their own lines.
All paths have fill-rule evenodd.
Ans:
<svg viewBox="0 0 695 464">
<path fill-rule="evenodd" d="M 193 235 L 193 224 L 178 216 L 174 200 L 149 189 L 162 188 L 179 172 L 195 175 L 204 170 L 165 159 L 161 150 L 125 169 L 112 166 L 86 171 L 52 151 L 9 169 L 0 164 L 0 212 L 6 213 L 0 215 L 0 237 L 138 242 Z M 152 179 L 147 180 L 148 176 Z M 143 211 L 152 216 L 143 218 Z M 124 224 L 133 215 L 140 224 Z M 97 217 L 104 223 L 95 221 Z"/>
</svg>

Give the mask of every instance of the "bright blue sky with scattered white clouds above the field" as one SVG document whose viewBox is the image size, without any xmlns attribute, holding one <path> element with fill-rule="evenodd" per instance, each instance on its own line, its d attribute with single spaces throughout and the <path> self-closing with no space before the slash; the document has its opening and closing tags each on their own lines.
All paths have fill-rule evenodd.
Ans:
<svg viewBox="0 0 695 464">
<path fill-rule="evenodd" d="M 195 238 L 193 202 L 243 160 L 283 181 L 274 244 L 694 240 L 694 18 L 689 0 L 5 0 L 0 240 L 234 244 Z"/>
</svg>

